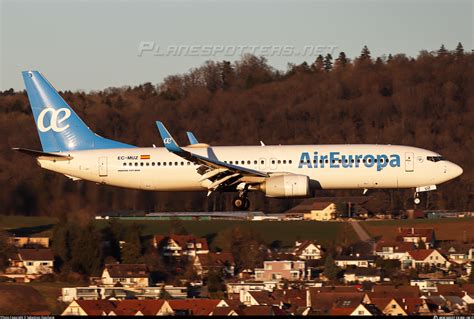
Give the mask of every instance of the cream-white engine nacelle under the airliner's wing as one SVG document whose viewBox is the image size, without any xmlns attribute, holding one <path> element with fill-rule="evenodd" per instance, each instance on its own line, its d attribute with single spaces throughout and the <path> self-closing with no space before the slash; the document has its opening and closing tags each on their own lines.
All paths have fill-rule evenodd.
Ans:
<svg viewBox="0 0 474 319">
<path fill-rule="evenodd" d="M 303 197 L 310 193 L 306 175 L 278 175 L 267 178 L 260 190 L 267 197 Z"/>
</svg>

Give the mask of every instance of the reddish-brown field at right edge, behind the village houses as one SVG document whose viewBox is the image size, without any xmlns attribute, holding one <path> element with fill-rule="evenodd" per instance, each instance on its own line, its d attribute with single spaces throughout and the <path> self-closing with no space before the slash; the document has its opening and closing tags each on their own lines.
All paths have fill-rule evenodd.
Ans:
<svg viewBox="0 0 474 319">
<path fill-rule="evenodd" d="M 361 225 L 375 238 L 394 239 L 399 227 L 433 228 L 438 240 L 474 240 L 474 217 L 367 221 Z"/>
</svg>

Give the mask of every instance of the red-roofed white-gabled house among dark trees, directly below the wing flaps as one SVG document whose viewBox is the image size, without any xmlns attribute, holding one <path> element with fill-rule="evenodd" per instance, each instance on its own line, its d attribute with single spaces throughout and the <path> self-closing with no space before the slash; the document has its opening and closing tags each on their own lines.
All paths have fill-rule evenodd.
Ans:
<svg viewBox="0 0 474 319">
<path fill-rule="evenodd" d="M 157 248 L 163 256 L 195 257 L 199 254 L 208 254 L 209 247 L 205 238 L 197 238 L 193 235 L 155 235 L 153 246 Z"/>
</svg>

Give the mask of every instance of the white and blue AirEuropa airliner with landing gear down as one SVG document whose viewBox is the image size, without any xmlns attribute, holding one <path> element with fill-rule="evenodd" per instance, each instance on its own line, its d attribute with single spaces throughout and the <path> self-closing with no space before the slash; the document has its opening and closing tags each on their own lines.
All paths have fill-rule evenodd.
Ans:
<svg viewBox="0 0 474 319">
<path fill-rule="evenodd" d="M 15 150 L 74 181 L 208 196 L 235 192 L 234 208 L 247 210 L 253 191 L 290 198 L 326 189 L 412 188 L 419 204 L 419 193 L 463 172 L 436 152 L 402 145 L 210 146 L 187 132 L 190 144 L 181 147 L 160 121 L 164 147 L 137 147 L 95 134 L 40 72 L 22 75 L 42 150 Z"/>
</svg>

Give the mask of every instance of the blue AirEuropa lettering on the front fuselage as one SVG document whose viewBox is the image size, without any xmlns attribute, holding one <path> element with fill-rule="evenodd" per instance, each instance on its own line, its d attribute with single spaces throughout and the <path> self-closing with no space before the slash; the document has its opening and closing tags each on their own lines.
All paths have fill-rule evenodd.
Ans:
<svg viewBox="0 0 474 319">
<path fill-rule="evenodd" d="M 301 153 L 298 168 L 352 168 L 352 167 L 377 167 L 377 171 L 381 171 L 384 167 L 400 167 L 400 155 L 378 154 L 378 155 L 346 155 L 340 152 L 329 152 L 329 155 L 319 155 L 313 152 L 313 156 L 309 152 Z"/>
</svg>

